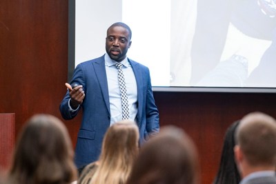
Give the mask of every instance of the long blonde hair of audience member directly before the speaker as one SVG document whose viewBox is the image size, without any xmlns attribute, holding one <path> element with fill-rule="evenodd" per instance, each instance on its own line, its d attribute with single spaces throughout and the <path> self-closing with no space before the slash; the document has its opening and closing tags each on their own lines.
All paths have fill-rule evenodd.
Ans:
<svg viewBox="0 0 276 184">
<path fill-rule="evenodd" d="M 103 138 L 99 167 L 91 183 L 126 183 L 138 154 L 138 141 L 135 122 L 125 120 L 111 125 Z"/>
</svg>

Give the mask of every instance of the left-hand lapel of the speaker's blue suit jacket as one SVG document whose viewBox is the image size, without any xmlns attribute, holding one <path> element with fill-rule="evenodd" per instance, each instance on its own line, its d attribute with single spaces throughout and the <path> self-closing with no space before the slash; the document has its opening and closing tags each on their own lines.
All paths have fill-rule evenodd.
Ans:
<svg viewBox="0 0 276 184">
<path fill-rule="evenodd" d="M 104 62 L 104 55 L 100 57 L 95 63 L 93 63 L 95 68 L 95 73 L 99 81 L 99 86 L 101 88 L 101 94 L 103 95 L 103 100 L 106 103 L 106 108 L 110 114 L 110 103 L 108 94 L 108 79 L 106 76 L 106 65 Z"/>
</svg>

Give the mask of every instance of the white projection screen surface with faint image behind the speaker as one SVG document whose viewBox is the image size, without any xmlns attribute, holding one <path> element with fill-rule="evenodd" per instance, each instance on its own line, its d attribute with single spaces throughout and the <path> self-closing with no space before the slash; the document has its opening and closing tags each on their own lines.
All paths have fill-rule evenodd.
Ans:
<svg viewBox="0 0 276 184">
<path fill-rule="evenodd" d="M 76 65 L 105 53 L 116 21 L 152 86 L 276 88 L 275 0 L 76 1 Z"/>
</svg>

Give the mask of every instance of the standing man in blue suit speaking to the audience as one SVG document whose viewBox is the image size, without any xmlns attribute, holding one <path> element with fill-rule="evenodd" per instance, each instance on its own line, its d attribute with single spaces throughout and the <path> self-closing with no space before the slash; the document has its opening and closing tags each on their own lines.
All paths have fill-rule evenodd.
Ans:
<svg viewBox="0 0 276 184">
<path fill-rule="evenodd" d="M 125 23 L 110 25 L 106 36 L 106 54 L 80 63 L 75 68 L 68 91 L 61 101 L 63 119 L 73 119 L 83 110 L 77 137 L 75 163 L 83 167 L 97 161 L 106 130 L 121 121 L 121 92 L 116 63 L 123 65 L 128 96 L 129 119 L 139 127 L 139 144 L 159 132 L 159 112 L 155 105 L 148 68 L 126 57 L 132 32 Z"/>
</svg>

